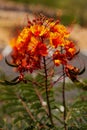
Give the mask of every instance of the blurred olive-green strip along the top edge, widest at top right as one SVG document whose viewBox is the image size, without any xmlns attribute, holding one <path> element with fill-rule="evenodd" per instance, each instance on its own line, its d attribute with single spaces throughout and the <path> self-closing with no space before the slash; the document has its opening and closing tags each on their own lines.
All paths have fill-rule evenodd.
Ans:
<svg viewBox="0 0 87 130">
<path fill-rule="evenodd" d="M 61 20 L 68 25 L 75 21 L 81 26 L 87 26 L 87 0 L 11 0 L 18 3 L 44 5 L 53 9 L 63 10 Z M 44 9 L 43 9 L 44 10 Z M 51 13 L 50 13 L 51 15 Z M 55 14 L 56 15 L 56 14 Z"/>
</svg>

